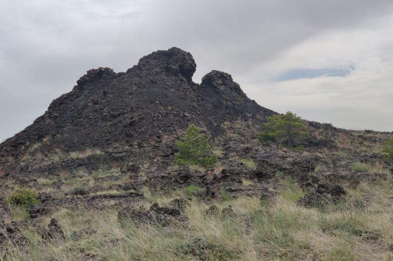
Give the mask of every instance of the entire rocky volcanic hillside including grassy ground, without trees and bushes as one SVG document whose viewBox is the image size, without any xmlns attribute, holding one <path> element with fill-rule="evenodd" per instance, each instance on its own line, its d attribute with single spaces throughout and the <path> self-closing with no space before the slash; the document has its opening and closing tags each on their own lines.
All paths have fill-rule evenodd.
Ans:
<svg viewBox="0 0 393 261">
<path fill-rule="evenodd" d="M 392 133 L 304 120 L 260 143 L 270 109 L 231 75 L 194 83 L 178 48 L 87 71 L 0 144 L 0 260 L 392 260 Z M 177 166 L 195 124 L 219 162 Z M 15 188 L 41 201 L 8 204 Z"/>
</svg>

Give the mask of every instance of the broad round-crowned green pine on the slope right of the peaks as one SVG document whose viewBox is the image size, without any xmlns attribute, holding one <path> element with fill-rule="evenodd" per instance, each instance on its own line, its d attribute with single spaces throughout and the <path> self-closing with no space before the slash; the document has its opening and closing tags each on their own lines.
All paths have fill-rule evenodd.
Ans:
<svg viewBox="0 0 393 261">
<path fill-rule="evenodd" d="M 264 125 L 264 131 L 259 133 L 259 141 L 274 140 L 276 142 L 287 141 L 288 147 L 294 142 L 307 139 L 306 126 L 301 117 L 288 111 L 283 115 L 272 115 Z"/>
</svg>

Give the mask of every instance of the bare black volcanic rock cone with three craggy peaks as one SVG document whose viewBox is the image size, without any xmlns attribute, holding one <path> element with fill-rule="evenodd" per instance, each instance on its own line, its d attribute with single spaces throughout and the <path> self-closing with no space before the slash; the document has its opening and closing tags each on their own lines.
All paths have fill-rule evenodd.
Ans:
<svg viewBox="0 0 393 261">
<path fill-rule="evenodd" d="M 192 82 L 195 69 L 192 55 L 174 47 L 141 58 L 125 73 L 89 70 L 44 115 L 0 145 L 0 170 L 32 152 L 45 157 L 59 151 L 144 147 L 191 123 L 217 137 L 224 123 L 261 122 L 275 113 L 248 99 L 227 73 L 212 71 L 201 84 Z"/>
</svg>

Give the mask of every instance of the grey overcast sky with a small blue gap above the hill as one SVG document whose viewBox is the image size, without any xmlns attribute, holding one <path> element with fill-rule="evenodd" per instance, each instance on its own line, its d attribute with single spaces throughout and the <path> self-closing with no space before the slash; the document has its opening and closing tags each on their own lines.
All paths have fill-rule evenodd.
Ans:
<svg viewBox="0 0 393 261">
<path fill-rule="evenodd" d="M 391 0 L 0 0 L 0 142 L 88 69 L 172 46 L 195 82 L 217 69 L 278 112 L 393 131 Z"/>
</svg>

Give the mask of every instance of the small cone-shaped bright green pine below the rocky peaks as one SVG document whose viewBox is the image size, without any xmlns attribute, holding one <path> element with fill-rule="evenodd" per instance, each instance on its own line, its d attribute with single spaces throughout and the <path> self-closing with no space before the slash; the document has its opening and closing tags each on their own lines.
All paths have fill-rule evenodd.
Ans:
<svg viewBox="0 0 393 261">
<path fill-rule="evenodd" d="M 212 166 L 218 161 L 216 155 L 212 155 L 211 147 L 205 135 L 199 134 L 195 125 L 187 128 L 186 135 L 176 143 L 179 153 L 174 163 L 177 165 Z"/>
</svg>

